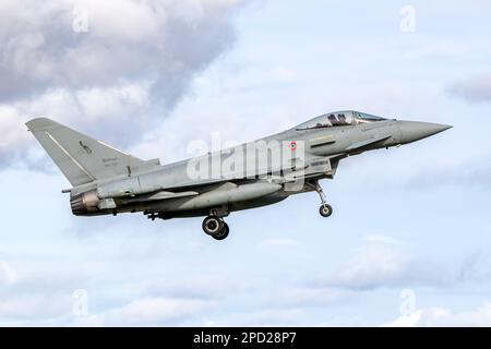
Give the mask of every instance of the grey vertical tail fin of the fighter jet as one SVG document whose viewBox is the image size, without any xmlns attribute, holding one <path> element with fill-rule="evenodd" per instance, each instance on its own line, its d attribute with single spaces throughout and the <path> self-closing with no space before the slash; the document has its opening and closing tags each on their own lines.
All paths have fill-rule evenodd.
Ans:
<svg viewBox="0 0 491 349">
<path fill-rule="evenodd" d="M 73 186 L 158 167 L 47 118 L 26 123 Z"/>
</svg>

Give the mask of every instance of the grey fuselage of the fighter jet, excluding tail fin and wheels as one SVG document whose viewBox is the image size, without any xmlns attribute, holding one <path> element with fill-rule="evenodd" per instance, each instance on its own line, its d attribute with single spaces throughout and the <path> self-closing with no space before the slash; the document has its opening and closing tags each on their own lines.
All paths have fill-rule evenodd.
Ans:
<svg viewBox="0 0 491 349">
<path fill-rule="evenodd" d="M 143 212 L 164 219 L 205 216 L 211 212 L 226 216 L 233 210 L 270 205 L 292 194 L 312 191 L 318 180 L 333 178 L 339 160 L 348 156 L 415 142 L 448 128 L 382 119 L 357 111 L 330 113 L 253 142 L 276 144 L 283 151 L 286 144 L 291 153 L 298 152 L 297 146 L 301 144 L 301 159 L 296 158 L 296 154 L 288 160 L 282 157 L 279 167 L 268 159 L 265 167 L 256 165 L 252 174 L 244 173 L 243 169 L 231 169 L 228 173 L 209 176 L 208 168 L 208 176 L 190 176 L 191 163 L 218 160 L 223 164 L 231 154 L 243 153 L 252 144 L 247 143 L 151 170 L 74 186 L 71 206 L 75 215 L 82 216 L 128 212 Z M 271 151 L 267 154 L 272 156 Z M 246 157 L 243 164 L 248 167 Z"/>
</svg>

